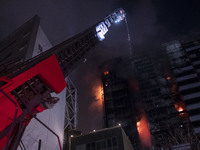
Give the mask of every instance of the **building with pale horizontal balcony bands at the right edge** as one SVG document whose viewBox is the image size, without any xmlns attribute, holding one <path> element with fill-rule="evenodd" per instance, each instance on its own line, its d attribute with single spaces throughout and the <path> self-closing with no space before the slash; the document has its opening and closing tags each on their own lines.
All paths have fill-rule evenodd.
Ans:
<svg viewBox="0 0 200 150">
<path fill-rule="evenodd" d="M 200 133 L 200 40 L 166 43 L 180 100 L 196 134 Z"/>
</svg>

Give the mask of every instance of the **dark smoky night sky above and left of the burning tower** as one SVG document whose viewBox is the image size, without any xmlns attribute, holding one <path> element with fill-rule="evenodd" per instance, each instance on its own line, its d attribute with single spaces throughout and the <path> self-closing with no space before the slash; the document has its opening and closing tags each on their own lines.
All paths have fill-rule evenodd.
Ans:
<svg viewBox="0 0 200 150">
<path fill-rule="evenodd" d="M 154 51 L 155 45 L 200 31 L 199 0 L 0 0 L 0 40 L 38 14 L 41 26 L 53 45 L 87 29 L 109 12 L 121 7 L 127 13 L 134 51 Z M 105 60 L 128 55 L 125 23 L 113 25 L 100 43 L 71 74 L 78 88 L 79 127 L 100 128 L 102 113 L 90 109 L 99 84 L 98 66 Z"/>
</svg>

